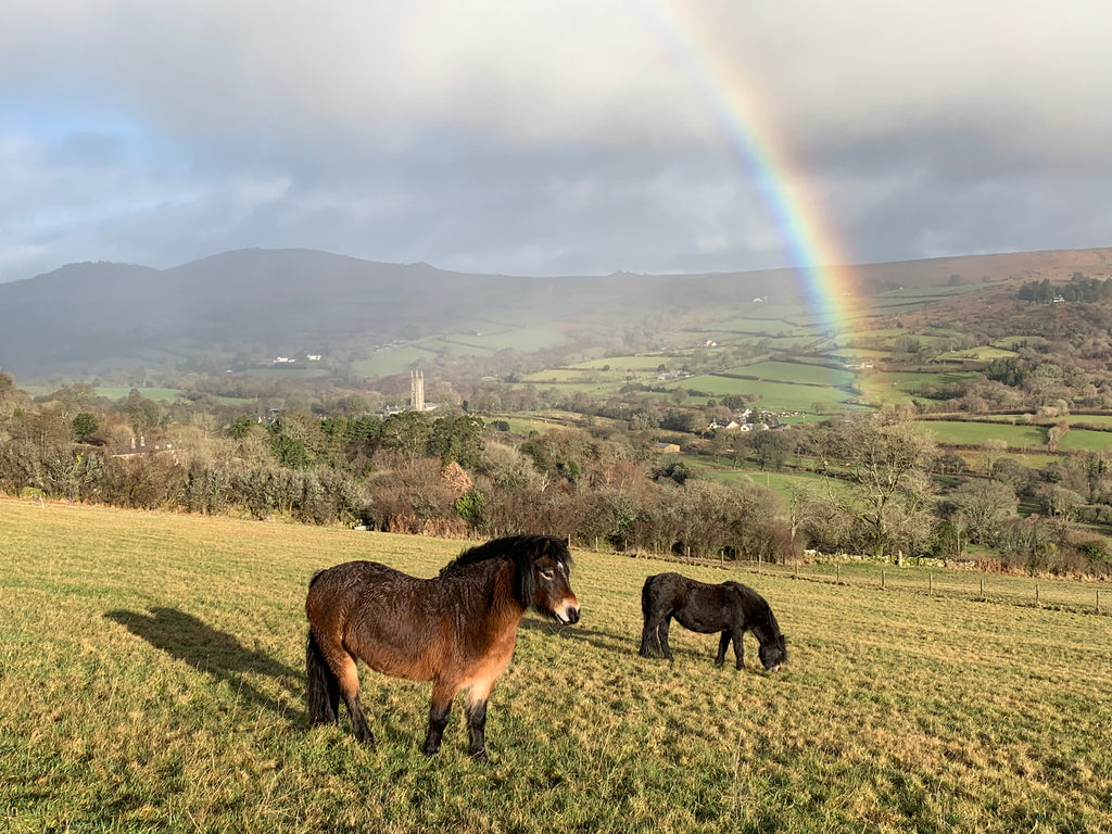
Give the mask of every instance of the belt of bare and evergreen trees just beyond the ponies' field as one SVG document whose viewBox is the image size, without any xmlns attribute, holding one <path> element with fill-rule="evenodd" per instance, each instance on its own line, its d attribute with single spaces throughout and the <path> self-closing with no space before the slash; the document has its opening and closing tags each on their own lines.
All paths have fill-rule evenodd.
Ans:
<svg viewBox="0 0 1112 834">
<path fill-rule="evenodd" d="M 911 409 L 692 436 L 672 456 L 632 420 L 522 437 L 460 407 L 357 411 L 175 416 L 138 391 L 115 404 L 82 390 L 32 403 L 0 375 L 0 490 L 398 533 L 546 533 L 698 558 L 979 553 L 1006 568 L 1109 573 L 1103 537 L 1075 524 L 1112 522 L 1108 456 L 1035 473 L 986 448 L 974 471 Z M 741 471 L 727 483 L 701 475 L 699 461 L 807 477 L 777 494 Z M 1021 500 L 1037 512 L 1020 517 Z"/>
</svg>

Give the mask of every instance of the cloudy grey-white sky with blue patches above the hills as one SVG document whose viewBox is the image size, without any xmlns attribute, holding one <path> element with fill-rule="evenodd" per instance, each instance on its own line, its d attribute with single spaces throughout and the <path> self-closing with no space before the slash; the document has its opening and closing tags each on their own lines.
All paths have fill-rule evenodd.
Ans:
<svg viewBox="0 0 1112 834">
<path fill-rule="evenodd" d="M 1112 246 L 1110 32 L 1108 0 L 9 1 L 0 281 Z"/>
</svg>

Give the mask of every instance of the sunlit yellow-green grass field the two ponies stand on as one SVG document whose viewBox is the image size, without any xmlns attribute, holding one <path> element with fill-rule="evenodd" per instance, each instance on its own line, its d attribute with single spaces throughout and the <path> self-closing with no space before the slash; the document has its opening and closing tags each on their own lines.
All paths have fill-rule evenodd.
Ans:
<svg viewBox="0 0 1112 834">
<path fill-rule="evenodd" d="M 583 619 L 523 623 L 483 766 L 458 702 L 420 753 L 427 684 L 364 672 L 376 746 L 304 703 L 311 573 L 464 543 L 11 499 L 0 529 L 13 833 L 1112 831 L 1112 617 L 685 567 L 759 590 L 788 661 L 676 626 L 669 665 L 639 590 L 674 566 L 575 550 Z"/>
</svg>

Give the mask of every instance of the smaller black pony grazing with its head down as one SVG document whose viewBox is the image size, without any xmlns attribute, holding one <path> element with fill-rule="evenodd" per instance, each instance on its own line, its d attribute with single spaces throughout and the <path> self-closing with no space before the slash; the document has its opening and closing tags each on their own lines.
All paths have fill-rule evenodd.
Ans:
<svg viewBox="0 0 1112 834">
<path fill-rule="evenodd" d="M 657 574 L 645 579 L 641 592 L 641 610 L 645 627 L 641 633 L 641 656 L 659 652 L 669 661 L 668 625 L 672 618 L 684 628 L 699 634 L 722 632 L 715 664 L 726 661 L 726 648 L 734 642 L 737 668 L 745 666 L 742 635 L 753 632 L 761 643 L 761 663 L 770 672 L 780 669 L 787 659 L 784 635 L 768 603 L 753 588 L 736 582 L 722 585 L 688 579 L 679 574 Z"/>
</svg>

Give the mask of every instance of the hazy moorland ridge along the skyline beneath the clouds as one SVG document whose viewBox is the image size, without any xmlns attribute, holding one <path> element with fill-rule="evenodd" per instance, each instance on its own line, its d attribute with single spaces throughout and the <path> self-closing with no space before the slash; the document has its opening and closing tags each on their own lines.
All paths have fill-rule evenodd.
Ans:
<svg viewBox="0 0 1112 834">
<path fill-rule="evenodd" d="M 1112 248 L 845 267 L 861 296 L 885 287 L 1112 277 Z M 956 278 L 954 278 L 956 276 Z M 464 321 L 616 326 L 790 300 L 791 269 L 712 275 L 515 277 L 379 264 L 307 249 L 242 249 L 172 269 L 71 264 L 0 284 L 0 370 L 53 374 L 209 369 L 301 349 L 357 358 L 375 345 Z"/>
</svg>

